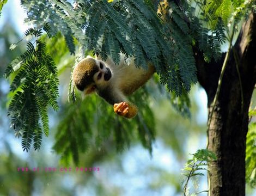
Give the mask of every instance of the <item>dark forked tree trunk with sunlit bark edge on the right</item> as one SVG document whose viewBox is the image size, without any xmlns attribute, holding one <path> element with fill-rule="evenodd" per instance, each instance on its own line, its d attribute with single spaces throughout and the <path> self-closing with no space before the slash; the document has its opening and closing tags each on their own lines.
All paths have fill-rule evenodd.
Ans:
<svg viewBox="0 0 256 196">
<path fill-rule="evenodd" d="M 217 161 L 209 165 L 209 195 L 245 195 L 248 108 L 256 82 L 255 16 L 249 16 L 234 46 L 239 71 L 236 69 L 233 51 L 230 53 L 220 95 L 210 121 L 208 149 L 215 152 Z M 208 111 L 211 113 L 224 54 L 219 62 L 207 64 L 202 53 L 196 49 L 194 52 L 198 80 L 208 95 Z"/>
</svg>

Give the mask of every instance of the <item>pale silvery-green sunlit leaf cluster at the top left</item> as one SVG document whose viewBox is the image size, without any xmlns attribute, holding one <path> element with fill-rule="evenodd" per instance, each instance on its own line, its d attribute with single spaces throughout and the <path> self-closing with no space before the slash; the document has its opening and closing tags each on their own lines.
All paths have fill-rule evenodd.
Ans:
<svg viewBox="0 0 256 196">
<path fill-rule="evenodd" d="M 75 54 L 74 38 L 82 45 L 86 45 L 86 36 L 83 35 L 81 29 L 81 24 L 86 20 L 85 13 L 74 11 L 68 1 L 21 0 L 21 4 L 27 10 L 25 21 L 33 23 L 38 28 L 48 24 L 46 31 L 49 35 L 62 33 L 71 54 Z"/>
</svg>

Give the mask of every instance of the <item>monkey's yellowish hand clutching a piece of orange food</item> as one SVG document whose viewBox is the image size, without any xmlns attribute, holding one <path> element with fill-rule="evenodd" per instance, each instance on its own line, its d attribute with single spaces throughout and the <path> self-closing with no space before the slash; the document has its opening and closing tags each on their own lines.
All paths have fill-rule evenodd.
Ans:
<svg viewBox="0 0 256 196">
<path fill-rule="evenodd" d="M 114 104 L 114 112 L 126 118 L 135 117 L 137 114 L 137 107 L 126 102 Z"/>
</svg>

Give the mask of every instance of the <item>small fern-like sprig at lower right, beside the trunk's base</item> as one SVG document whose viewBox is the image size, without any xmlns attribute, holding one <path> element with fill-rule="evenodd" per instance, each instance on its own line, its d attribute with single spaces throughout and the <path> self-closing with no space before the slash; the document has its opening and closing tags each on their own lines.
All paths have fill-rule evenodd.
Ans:
<svg viewBox="0 0 256 196">
<path fill-rule="evenodd" d="M 208 163 L 217 159 L 216 155 L 207 149 L 197 150 L 197 152 L 192 155 L 193 157 L 187 161 L 185 168 L 183 169 L 184 175 L 186 176 L 186 180 L 184 181 L 184 196 L 187 195 L 188 182 L 191 180 L 191 178 L 204 176 L 200 170 L 207 170 L 206 166 Z"/>
</svg>

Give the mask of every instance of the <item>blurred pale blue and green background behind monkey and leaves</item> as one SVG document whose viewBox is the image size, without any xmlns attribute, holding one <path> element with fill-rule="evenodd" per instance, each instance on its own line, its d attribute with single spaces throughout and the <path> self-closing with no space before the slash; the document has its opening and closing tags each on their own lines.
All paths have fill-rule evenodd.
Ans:
<svg viewBox="0 0 256 196">
<path fill-rule="evenodd" d="M 14 51 L 9 50 L 27 29 L 23 24 L 25 16 L 19 1 L 12 0 L 4 5 L 0 17 L 0 195 L 181 195 L 184 180 L 181 169 L 190 154 L 206 148 L 206 95 L 198 85 L 190 93 L 190 119 L 177 113 L 167 96 L 153 93 L 150 97 L 149 106 L 156 122 L 152 155 L 138 140 L 133 141 L 130 148 L 117 152 L 109 139 L 102 149 L 92 144 L 80 155 L 78 166 L 71 161 L 64 164 L 52 147 L 57 126 L 63 119 L 59 113 L 69 105 L 70 63 L 74 57 L 66 54 L 58 62 L 63 65 L 58 68 L 60 110 L 50 111 L 50 134 L 43 138 L 40 151 L 23 152 L 21 140 L 15 138 L 10 129 L 9 82 L 3 73 L 8 63 L 25 51 L 22 43 Z M 191 192 L 193 189 L 207 189 L 206 177 L 194 182 Z"/>
</svg>

